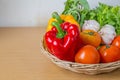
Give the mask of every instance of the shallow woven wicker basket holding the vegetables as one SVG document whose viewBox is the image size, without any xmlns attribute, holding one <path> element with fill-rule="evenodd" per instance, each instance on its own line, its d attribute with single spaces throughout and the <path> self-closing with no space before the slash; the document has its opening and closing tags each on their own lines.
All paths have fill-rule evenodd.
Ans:
<svg viewBox="0 0 120 80">
<path fill-rule="evenodd" d="M 120 68 L 120 61 L 111 63 L 100 63 L 100 64 L 80 64 L 75 62 L 63 61 L 50 54 L 44 46 L 43 40 L 40 44 L 41 52 L 56 65 L 64 69 L 68 69 L 77 73 L 84 73 L 89 75 L 95 75 L 100 73 L 107 73 Z"/>
</svg>

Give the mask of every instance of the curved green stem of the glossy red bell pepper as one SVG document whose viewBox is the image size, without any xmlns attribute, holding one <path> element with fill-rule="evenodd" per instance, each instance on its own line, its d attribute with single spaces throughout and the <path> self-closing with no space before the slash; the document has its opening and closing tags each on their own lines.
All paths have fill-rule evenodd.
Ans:
<svg viewBox="0 0 120 80">
<path fill-rule="evenodd" d="M 60 24 L 58 22 L 52 22 L 52 25 L 56 27 L 58 33 L 57 33 L 57 38 L 63 38 L 65 35 L 65 32 L 62 30 L 60 27 Z"/>
</svg>

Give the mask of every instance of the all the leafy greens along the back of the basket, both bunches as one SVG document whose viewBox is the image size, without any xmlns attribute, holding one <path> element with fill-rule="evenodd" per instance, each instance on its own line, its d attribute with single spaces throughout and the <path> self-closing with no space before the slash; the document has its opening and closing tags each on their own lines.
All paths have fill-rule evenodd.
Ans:
<svg viewBox="0 0 120 80">
<path fill-rule="evenodd" d="M 99 5 L 90 9 L 87 0 L 67 0 L 63 14 L 71 14 L 82 27 L 85 20 L 96 20 L 101 28 L 106 25 L 112 25 L 117 35 L 120 34 L 120 6 L 109 6 L 99 3 Z"/>
</svg>

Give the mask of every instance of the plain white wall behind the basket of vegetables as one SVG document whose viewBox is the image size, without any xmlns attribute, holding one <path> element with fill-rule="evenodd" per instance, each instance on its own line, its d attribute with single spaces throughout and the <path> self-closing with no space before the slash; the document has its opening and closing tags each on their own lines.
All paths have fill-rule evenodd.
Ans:
<svg viewBox="0 0 120 80">
<path fill-rule="evenodd" d="M 0 0 L 0 26 L 46 26 L 53 11 L 61 13 L 66 0 Z M 88 0 L 90 7 L 98 2 L 120 5 L 120 0 Z"/>
</svg>

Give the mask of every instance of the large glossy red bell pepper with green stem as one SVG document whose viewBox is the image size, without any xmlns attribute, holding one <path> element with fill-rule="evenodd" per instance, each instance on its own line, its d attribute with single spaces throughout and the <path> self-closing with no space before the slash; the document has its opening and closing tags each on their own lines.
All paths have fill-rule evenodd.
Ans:
<svg viewBox="0 0 120 80">
<path fill-rule="evenodd" d="M 61 60 L 74 61 L 75 53 L 80 48 L 80 31 L 78 26 L 63 22 L 57 13 L 53 13 L 54 26 L 45 34 L 45 44 L 50 53 Z"/>
</svg>

